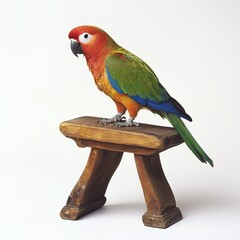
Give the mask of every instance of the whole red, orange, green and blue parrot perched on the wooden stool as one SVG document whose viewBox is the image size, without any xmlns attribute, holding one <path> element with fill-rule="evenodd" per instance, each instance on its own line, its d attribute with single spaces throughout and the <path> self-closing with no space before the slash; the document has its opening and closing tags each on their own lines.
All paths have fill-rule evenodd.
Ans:
<svg viewBox="0 0 240 240">
<path fill-rule="evenodd" d="M 117 114 L 99 123 L 117 127 L 138 127 L 139 110 L 148 109 L 167 119 L 193 154 L 214 166 L 182 119 L 192 121 L 182 105 L 163 87 L 150 66 L 118 45 L 104 30 L 90 25 L 73 28 L 68 37 L 72 53 L 83 54 L 97 88 L 116 104 Z M 129 119 L 124 114 L 128 111 Z"/>
</svg>

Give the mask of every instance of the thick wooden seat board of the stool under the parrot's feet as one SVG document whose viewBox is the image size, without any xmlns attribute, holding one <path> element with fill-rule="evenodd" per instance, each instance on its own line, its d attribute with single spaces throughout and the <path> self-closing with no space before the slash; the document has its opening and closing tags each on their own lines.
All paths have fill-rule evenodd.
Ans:
<svg viewBox="0 0 240 240">
<path fill-rule="evenodd" d="M 73 139 L 157 149 L 159 152 L 183 142 L 174 128 L 148 124 L 117 128 L 97 124 L 99 119 L 100 117 L 80 117 L 69 120 L 61 123 L 60 131 Z"/>
</svg>

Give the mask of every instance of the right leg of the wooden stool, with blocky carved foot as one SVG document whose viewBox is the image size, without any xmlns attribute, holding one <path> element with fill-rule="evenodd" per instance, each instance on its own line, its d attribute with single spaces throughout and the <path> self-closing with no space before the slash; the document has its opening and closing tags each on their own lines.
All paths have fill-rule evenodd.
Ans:
<svg viewBox="0 0 240 240">
<path fill-rule="evenodd" d="M 182 219 L 173 192 L 162 170 L 159 154 L 135 154 L 138 175 L 142 184 L 147 212 L 143 223 L 149 227 L 167 228 Z"/>
</svg>

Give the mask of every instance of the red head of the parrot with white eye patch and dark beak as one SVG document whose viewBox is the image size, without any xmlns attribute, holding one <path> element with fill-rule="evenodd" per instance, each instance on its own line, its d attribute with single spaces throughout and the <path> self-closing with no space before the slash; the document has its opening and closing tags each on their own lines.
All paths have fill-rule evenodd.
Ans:
<svg viewBox="0 0 240 240">
<path fill-rule="evenodd" d="M 72 29 L 68 35 L 74 55 L 83 53 L 87 59 L 104 56 L 118 45 L 102 29 L 94 26 L 79 26 Z"/>
</svg>

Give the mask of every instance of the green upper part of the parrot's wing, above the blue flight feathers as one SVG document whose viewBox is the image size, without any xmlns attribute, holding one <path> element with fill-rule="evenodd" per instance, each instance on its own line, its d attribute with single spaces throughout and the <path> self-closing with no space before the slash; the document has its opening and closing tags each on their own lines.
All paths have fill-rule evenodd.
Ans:
<svg viewBox="0 0 240 240">
<path fill-rule="evenodd" d="M 106 60 L 106 70 L 111 85 L 118 92 L 158 103 L 169 99 L 153 70 L 130 52 L 111 54 Z"/>
</svg>

